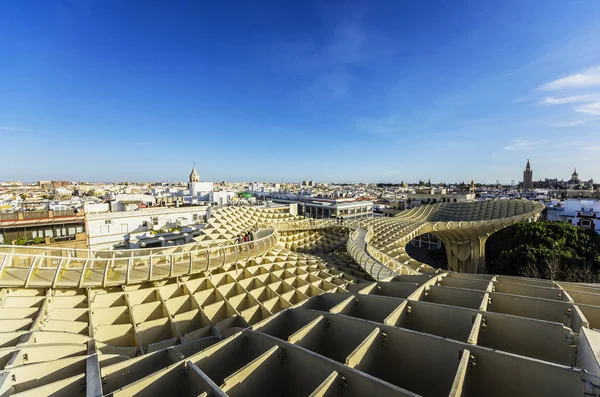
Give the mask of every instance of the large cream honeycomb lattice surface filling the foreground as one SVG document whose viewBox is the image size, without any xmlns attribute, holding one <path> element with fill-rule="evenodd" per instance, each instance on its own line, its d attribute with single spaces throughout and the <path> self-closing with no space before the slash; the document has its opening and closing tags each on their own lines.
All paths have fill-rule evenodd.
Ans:
<svg viewBox="0 0 600 397">
<path fill-rule="evenodd" d="M 435 209 L 409 213 L 423 214 Z M 267 229 L 252 216 L 231 229 L 272 230 L 274 244 L 246 246 L 235 261 L 221 246 L 221 265 L 192 273 L 4 286 L 0 396 L 598 394 L 599 286 L 419 266 L 373 281 L 344 244 L 363 230 L 370 255 L 371 244 L 384 250 L 383 241 L 418 232 L 419 219 L 345 232 L 280 219 Z"/>
</svg>

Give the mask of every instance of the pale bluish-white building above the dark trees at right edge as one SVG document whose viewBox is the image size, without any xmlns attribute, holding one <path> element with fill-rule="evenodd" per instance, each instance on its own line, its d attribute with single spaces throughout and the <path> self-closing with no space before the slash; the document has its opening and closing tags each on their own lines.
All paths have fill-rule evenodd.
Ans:
<svg viewBox="0 0 600 397">
<path fill-rule="evenodd" d="M 567 199 L 547 206 L 549 221 L 569 222 L 600 233 L 600 201 Z"/>
</svg>

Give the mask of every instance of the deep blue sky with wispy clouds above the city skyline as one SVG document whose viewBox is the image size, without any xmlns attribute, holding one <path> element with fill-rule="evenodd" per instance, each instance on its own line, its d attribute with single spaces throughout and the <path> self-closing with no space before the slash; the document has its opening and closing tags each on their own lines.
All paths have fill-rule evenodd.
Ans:
<svg viewBox="0 0 600 397">
<path fill-rule="evenodd" d="M 600 179 L 600 2 L 0 2 L 0 180 Z"/>
</svg>

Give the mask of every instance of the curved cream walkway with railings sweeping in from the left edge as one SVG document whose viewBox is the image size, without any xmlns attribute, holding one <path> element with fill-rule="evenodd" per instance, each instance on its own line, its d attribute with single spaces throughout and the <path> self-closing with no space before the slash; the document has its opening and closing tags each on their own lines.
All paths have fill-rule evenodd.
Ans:
<svg viewBox="0 0 600 397">
<path fill-rule="evenodd" d="M 279 237 L 275 228 L 257 230 L 256 234 L 263 233 L 266 234 L 243 243 L 213 245 L 202 249 L 195 246 L 190 248 L 196 249 L 186 251 L 164 250 L 143 256 L 134 256 L 133 250 L 129 256 L 117 256 L 115 251 L 106 251 L 109 253 L 108 257 L 87 258 L 47 255 L 46 252 L 0 252 L 0 286 L 105 287 L 187 276 L 237 263 L 237 253 L 241 251 L 247 252 L 248 260 L 264 255 L 277 243 Z M 159 274 L 158 269 L 162 269 Z"/>
</svg>

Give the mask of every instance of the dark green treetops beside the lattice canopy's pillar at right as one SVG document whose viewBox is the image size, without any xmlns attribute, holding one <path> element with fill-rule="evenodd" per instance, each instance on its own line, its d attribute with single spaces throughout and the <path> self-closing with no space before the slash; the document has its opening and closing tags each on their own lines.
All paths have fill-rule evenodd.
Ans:
<svg viewBox="0 0 600 397">
<path fill-rule="evenodd" d="M 600 235 L 564 222 L 518 223 L 490 236 L 486 260 L 490 273 L 589 281 L 573 277 L 600 270 Z"/>
</svg>

